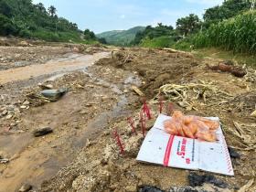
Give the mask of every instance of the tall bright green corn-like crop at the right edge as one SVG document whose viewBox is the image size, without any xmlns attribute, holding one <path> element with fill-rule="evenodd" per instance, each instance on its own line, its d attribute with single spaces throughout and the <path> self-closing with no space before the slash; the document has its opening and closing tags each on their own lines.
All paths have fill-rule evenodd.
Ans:
<svg viewBox="0 0 256 192">
<path fill-rule="evenodd" d="M 235 53 L 256 54 L 256 11 L 212 25 L 193 38 L 196 48 L 219 47 Z"/>
</svg>

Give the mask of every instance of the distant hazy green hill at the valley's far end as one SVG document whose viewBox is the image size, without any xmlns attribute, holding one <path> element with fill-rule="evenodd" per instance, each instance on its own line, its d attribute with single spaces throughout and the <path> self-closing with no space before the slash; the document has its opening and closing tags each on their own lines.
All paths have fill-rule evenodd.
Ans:
<svg viewBox="0 0 256 192">
<path fill-rule="evenodd" d="M 96 35 L 105 38 L 108 44 L 127 46 L 133 41 L 138 32 L 144 31 L 145 27 L 133 27 L 128 30 L 113 30 Z"/>
</svg>

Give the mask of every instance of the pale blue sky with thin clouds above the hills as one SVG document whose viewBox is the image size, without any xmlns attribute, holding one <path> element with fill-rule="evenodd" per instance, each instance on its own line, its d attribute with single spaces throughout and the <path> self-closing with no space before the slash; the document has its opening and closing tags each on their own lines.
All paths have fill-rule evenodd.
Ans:
<svg viewBox="0 0 256 192">
<path fill-rule="evenodd" d="M 163 23 L 176 26 L 176 20 L 189 14 L 202 18 L 205 9 L 221 5 L 223 0 L 33 0 L 46 7 L 54 5 L 58 16 L 89 28 L 98 34 L 136 26 Z"/>
</svg>

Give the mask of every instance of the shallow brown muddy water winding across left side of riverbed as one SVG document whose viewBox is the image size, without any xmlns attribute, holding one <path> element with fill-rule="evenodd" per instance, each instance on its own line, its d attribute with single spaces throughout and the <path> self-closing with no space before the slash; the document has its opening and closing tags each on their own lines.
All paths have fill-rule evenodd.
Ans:
<svg viewBox="0 0 256 192">
<path fill-rule="evenodd" d="M 42 65 L 1 70 L 0 83 L 15 83 L 15 80 L 26 82 L 31 77 L 37 81 L 37 77 L 41 76 L 45 76 L 45 80 L 55 80 L 66 73 L 77 70 L 87 73 L 86 69 L 93 65 L 95 61 L 109 57 L 109 55 L 110 53 L 108 52 L 94 55 L 69 54 L 65 58 L 50 60 Z M 89 75 L 91 79 L 94 78 L 93 75 Z M 97 80 L 101 84 L 108 85 L 114 94 L 119 95 L 118 101 L 112 107 L 112 110 L 101 112 L 89 122 L 85 122 L 85 126 L 78 132 L 72 133 L 72 130 L 63 129 L 63 132 L 59 133 L 59 135 L 49 134 L 40 139 L 33 137 L 29 132 L 0 134 L 0 151 L 11 156 L 7 165 L 0 165 L 0 192 L 17 191 L 25 183 L 33 185 L 33 188 L 37 190 L 44 180 L 54 176 L 61 167 L 68 165 L 80 149 L 85 146 L 88 139 L 91 140 L 99 135 L 110 121 L 127 115 L 128 112 L 124 108 L 128 101 L 125 95 L 121 94 L 123 91 L 113 83 L 99 80 L 99 78 Z M 124 80 L 124 82 L 125 84 L 140 83 L 139 80 L 132 76 Z M 34 113 L 35 122 L 42 121 L 42 116 L 46 122 L 48 120 L 58 122 L 59 115 L 65 118 L 65 114 L 61 114 L 61 112 L 69 112 L 70 109 L 75 110 L 79 104 L 79 101 L 76 101 L 76 98 L 68 93 L 58 102 L 40 107 L 40 110 L 37 108 L 35 110 L 31 109 L 31 113 Z M 56 109 L 56 111 L 51 112 L 51 109 Z M 33 119 L 25 120 L 26 123 L 27 126 L 35 125 L 33 124 Z M 55 125 L 54 123 L 41 123 L 41 125 L 48 124 Z"/>
</svg>

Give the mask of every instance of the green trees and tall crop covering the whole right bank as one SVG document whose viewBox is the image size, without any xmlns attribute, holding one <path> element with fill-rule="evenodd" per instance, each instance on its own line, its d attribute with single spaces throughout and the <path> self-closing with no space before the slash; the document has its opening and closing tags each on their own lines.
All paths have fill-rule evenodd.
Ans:
<svg viewBox="0 0 256 192">
<path fill-rule="evenodd" d="M 148 48 L 192 48 L 216 47 L 234 53 L 256 53 L 256 13 L 249 11 L 251 2 L 226 0 L 206 10 L 201 21 L 198 16 L 179 18 L 176 29 L 159 24 L 148 26 L 137 33 L 133 45 Z"/>
</svg>

